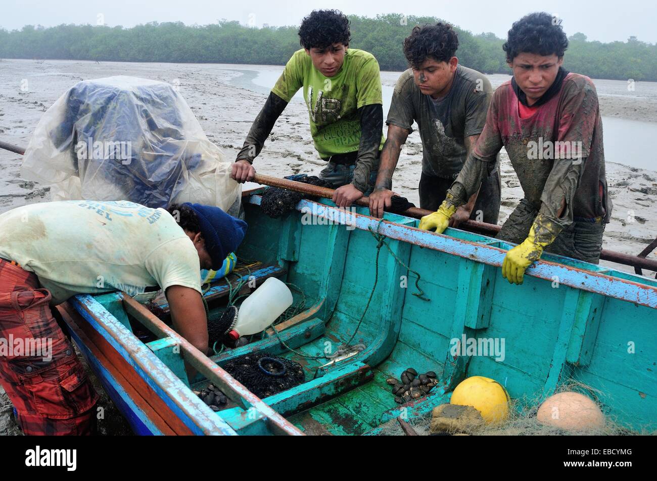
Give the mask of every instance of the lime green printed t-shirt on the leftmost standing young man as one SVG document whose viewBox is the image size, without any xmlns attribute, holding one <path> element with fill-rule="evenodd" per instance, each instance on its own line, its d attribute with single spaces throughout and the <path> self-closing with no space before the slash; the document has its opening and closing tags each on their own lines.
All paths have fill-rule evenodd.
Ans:
<svg viewBox="0 0 657 481">
<path fill-rule="evenodd" d="M 358 109 L 383 104 L 381 77 L 373 54 L 348 49 L 338 73 L 325 77 L 304 49 L 296 51 L 271 91 L 290 102 L 302 87 L 310 133 L 319 156 L 326 159 L 357 151 L 361 140 Z M 382 135 L 379 149 L 384 140 Z"/>
</svg>

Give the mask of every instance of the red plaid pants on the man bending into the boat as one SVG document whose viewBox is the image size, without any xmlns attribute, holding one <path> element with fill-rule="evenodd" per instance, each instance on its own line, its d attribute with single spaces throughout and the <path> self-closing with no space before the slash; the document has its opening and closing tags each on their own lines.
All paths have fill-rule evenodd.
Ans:
<svg viewBox="0 0 657 481">
<path fill-rule="evenodd" d="M 50 300 L 33 272 L 0 259 L 0 384 L 24 434 L 93 434 L 98 395 Z"/>
</svg>

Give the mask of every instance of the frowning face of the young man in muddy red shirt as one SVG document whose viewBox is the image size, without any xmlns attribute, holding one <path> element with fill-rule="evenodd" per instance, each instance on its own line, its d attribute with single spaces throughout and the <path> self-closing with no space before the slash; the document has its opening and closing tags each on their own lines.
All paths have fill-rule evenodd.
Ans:
<svg viewBox="0 0 657 481">
<path fill-rule="evenodd" d="M 556 54 L 537 55 L 523 52 L 509 64 L 518 87 L 526 94 L 527 103 L 532 105 L 555 82 L 559 67 L 564 62 Z"/>
</svg>

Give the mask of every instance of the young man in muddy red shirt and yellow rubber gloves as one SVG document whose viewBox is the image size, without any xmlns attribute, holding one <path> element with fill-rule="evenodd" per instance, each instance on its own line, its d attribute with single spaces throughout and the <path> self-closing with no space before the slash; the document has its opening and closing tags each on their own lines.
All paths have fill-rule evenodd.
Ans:
<svg viewBox="0 0 657 481">
<path fill-rule="evenodd" d="M 497 235 L 519 243 L 502 266 L 510 283 L 521 284 L 544 249 L 597 264 L 611 215 L 598 96 L 589 77 L 562 67 L 567 47 L 558 18 L 541 12 L 514 22 L 503 47 L 513 77 L 493 94 L 484 131 L 440 209 L 420 222 L 443 232 L 505 147 L 524 191 Z"/>
</svg>

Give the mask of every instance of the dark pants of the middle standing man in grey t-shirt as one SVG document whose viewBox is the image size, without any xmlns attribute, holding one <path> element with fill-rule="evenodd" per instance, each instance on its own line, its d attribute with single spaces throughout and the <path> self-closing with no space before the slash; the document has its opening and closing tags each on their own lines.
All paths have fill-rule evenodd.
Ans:
<svg viewBox="0 0 657 481">
<path fill-rule="evenodd" d="M 445 200 L 447 189 L 451 187 L 453 182 L 453 178 L 433 177 L 422 173 L 419 186 L 420 209 L 437 211 L 440 204 Z M 501 190 L 501 178 L 496 170 L 482 181 L 482 187 L 474 203 L 470 219 L 497 225 Z"/>
</svg>

